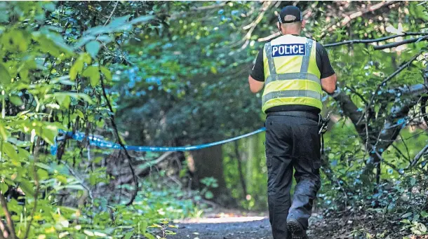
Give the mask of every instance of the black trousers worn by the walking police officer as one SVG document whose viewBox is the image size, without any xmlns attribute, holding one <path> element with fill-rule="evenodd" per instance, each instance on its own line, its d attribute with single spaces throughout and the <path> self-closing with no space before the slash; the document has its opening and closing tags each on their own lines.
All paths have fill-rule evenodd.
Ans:
<svg viewBox="0 0 428 239">
<path fill-rule="evenodd" d="M 312 203 L 321 186 L 318 121 L 268 115 L 265 126 L 269 221 L 274 239 L 288 239 L 287 218 L 297 219 L 307 229 Z M 297 184 L 291 201 L 293 168 Z"/>
</svg>

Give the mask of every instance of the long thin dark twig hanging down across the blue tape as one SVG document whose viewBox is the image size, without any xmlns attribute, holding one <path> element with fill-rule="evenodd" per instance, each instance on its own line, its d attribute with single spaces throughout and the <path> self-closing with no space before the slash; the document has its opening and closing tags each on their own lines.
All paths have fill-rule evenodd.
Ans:
<svg viewBox="0 0 428 239">
<path fill-rule="evenodd" d="M 102 78 L 100 78 L 100 83 L 101 83 L 101 88 L 102 88 L 102 95 L 105 97 L 107 106 L 109 107 L 109 110 L 111 112 L 111 114 L 109 114 L 109 116 L 110 116 L 110 121 L 112 122 L 112 127 L 113 127 L 113 130 L 114 130 L 114 135 L 116 136 L 117 141 L 119 142 L 121 148 L 125 152 L 126 158 L 128 158 L 128 166 L 131 169 L 131 173 L 132 173 L 132 177 L 133 177 L 133 182 L 134 182 L 134 185 L 135 185 L 135 190 L 133 191 L 133 194 L 131 196 L 131 200 L 129 200 L 129 202 L 126 203 L 126 205 L 128 206 L 128 205 L 131 205 L 133 203 L 133 201 L 135 200 L 135 198 L 137 197 L 137 193 L 138 193 L 137 176 L 135 175 L 135 170 L 134 170 L 133 165 L 131 163 L 132 162 L 132 158 L 129 155 L 128 150 L 126 149 L 125 144 L 123 144 L 123 142 L 122 142 L 122 139 L 121 139 L 121 137 L 119 135 L 119 130 L 117 130 L 116 122 L 114 121 L 113 107 L 112 107 L 112 104 L 110 104 L 110 100 L 107 97 L 107 93 L 105 92 L 104 81 L 103 81 Z"/>
</svg>

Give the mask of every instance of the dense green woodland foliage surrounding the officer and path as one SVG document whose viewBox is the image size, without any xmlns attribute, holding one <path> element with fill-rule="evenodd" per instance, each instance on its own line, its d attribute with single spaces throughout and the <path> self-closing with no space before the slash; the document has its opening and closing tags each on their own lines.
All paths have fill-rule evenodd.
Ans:
<svg viewBox="0 0 428 239">
<path fill-rule="evenodd" d="M 262 134 L 205 154 L 159 154 L 58 132 L 181 146 L 262 127 L 247 77 L 288 4 L 0 2 L 0 239 L 165 237 L 168 220 L 148 226 L 198 217 L 206 199 L 265 210 Z M 299 6 L 303 34 L 326 46 L 339 76 L 340 90 L 324 98 L 333 123 L 319 204 L 427 234 L 427 3 Z"/>
</svg>

